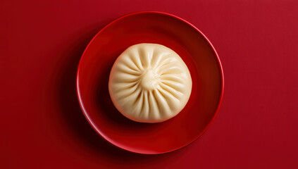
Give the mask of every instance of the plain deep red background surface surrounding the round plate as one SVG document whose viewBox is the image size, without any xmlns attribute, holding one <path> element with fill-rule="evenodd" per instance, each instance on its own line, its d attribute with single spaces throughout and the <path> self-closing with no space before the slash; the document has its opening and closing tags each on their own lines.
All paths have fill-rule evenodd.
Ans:
<svg viewBox="0 0 298 169">
<path fill-rule="evenodd" d="M 0 2 L 0 168 L 298 168 L 298 1 Z M 75 94 L 82 51 L 106 24 L 163 11 L 197 26 L 225 92 L 202 137 L 139 155 L 92 130 Z"/>
</svg>

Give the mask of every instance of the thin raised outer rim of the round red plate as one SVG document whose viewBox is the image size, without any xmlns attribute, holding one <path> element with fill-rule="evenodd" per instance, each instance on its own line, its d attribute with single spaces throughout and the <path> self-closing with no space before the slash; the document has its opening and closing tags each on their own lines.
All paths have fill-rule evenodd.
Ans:
<svg viewBox="0 0 298 169">
<path fill-rule="evenodd" d="M 89 45 L 91 45 L 93 42 L 94 42 L 94 39 L 103 31 L 106 29 L 106 27 L 109 27 L 110 25 L 112 25 L 113 23 L 116 23 L 118 22 L 118 20 L 121 20 L 123 18 L 126 18 L 126 17 L 129 17 L 131 15 L 138 15 L 138 14 L 142 14 L 142 13 L 154 13 L 154 14 L 161 14 L 161 15 L 167 15 L 167 16 L 170 16 L 172 18 L 175 18 L 177 20 L 180 20 L 182 21 L 182 23 L 185 23 L 187 25 L 189 25 L 190 27 L 192 27 L 194 30 L 196 30 L 199 35 L 201 35 L 205 40 L 206 42 L 209 44 L 209 46 L 211 46 L 211 49 L 213 51 L 213 53 L 215 54 L 216 56 L 216 61 L 218 62 L 218 66 L 220 68 L 220 74 L 221 74 L 221 94 L 220 94 L 220 98 L 219 98 L 219 101 L 218 101 L 218 105 L 217 105 L 217 108 L 216 108 L 216 111 L 213 115 L 213 117 L 211 118 L 211 120 L 209 121 L 208 125 L 206 125 L 206 127 L 204 128 L 204 130 L 202 132 L 200 132 L 197 137 L 194 137 L 194 139 L 192 139 L 190 142 L 187 142 L 187 144 L 184 144 L 182 146 L 179 146 L 175 149 L 171 149 L 171 150 L 168 150 L 168 151 L 162 151 L 162 152 L 157 152 L 157 153 L 149 153 L 149 152 L 140 152 L 140 151 L 134 151 L 132 149 L 125 149 L 121 146 L 118 146 L 116 144 L 114 144 L 111 140 L 108 140 L 106 137 L 104 137 L 104 134 L 101 133 L 99 130 L 97 130 L 96 127 L 94 127 L 94 124 L 92 123 L 92 120 L 89 119 L 89 116 L 87 115 L 87 113 L 85 113 L 85 108 L 84 106 L 82 105 L 82 99 L 81 99 L 81 96 L 80 96 L 80 88 L 79 88 L 79 71 L 80 71 L 80 65 L 82 63 L 82 56 L 85 55 L 87 49 L 89 48 Z M 90 42 L 87 44 L 87 46 L 85 47 L 85 50 L 83 51 L 81 57 L 80 57 L 80 61 L 77 65 L 77 72 L 76 72 L 76 93 L 77 93 L 77 99 L 79 101 L 79 104 L 80 104 L 80 108 L 82 110 L 82 114 L 85 116 L 85 118 L 87 119 L 87 122 L 89 123 L 89 125 L 92 126 L 93 130 L 95 130 L 97 132 L 97 134 L 99 134 L 99 136 L 101 138 L 103 138 L 106 142 L 108 142 L 109 144 L 113 145 L 113 146 L 116 146 L 120 149 L 123 149 L 125 151 L 129 151 L 129 152 L 132 152 L 132 153 L 135 153 L 135 154 L 166 154 L 166 153 L 169 153 L 169 152 L 172 152 L 172 151 L 176 151 L 178 149 L 181 149 L 182 147 L 185 147 L 187 145 L 190 145 L 192 142 L 194 142 L 195 140 L 197 140 L 199 137 L 201 137 L 202 134 L 204 134 L 204 132 L 206 132 L 206 130 L 209 129 L 211 123 L 213 122 L 213 120 L 216 118 L 216 115 L 218 114 L 218 111 L 221 107 L 221 103 L 223 101 L 223 90 L 224 90 L 224 75 L 223 75 L 223 65 L 221 64 L 221 60 L 218 56 L 218 53 L 216 52 L 216 49 L 214 48 L 214 46 L 211 44 L 211 42 L 209 41 L 209 39 L 203 34 L 203 32 L 201 32 L 201 30 L 199 30 L 197 27 L 195 27 L 194 25 L 192 25 L 192 23 L 189 23 L 187 20 L 185 19 L 182 19 L 176 15 L 173 15 L 173 14 L 170 14 L 170 13 L 166 13 L 166 12 L 161 12 L 161 11 L 139 11 L 139 12 L 132 12 L 132 13 L 128 13 L 126 15 L 122 15 L 118 18 L 116 18 L 115 20 L 112 20 L 110 23 L 108 23 L 107 25 L 105 25 L 104 27 L 101 28 L 101 30 L 99 30 L 99 32 L 97 32 L 96 35 L 94 35 L 94 37 L 90 40 Z"/>
</svg>

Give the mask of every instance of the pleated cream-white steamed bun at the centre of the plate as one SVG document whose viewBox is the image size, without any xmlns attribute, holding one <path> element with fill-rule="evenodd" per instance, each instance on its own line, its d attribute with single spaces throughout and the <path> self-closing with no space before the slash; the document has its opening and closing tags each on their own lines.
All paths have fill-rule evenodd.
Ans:
<svg viewBox="0 0 298 169">
<path fill-rule="evenodd" d="M 161 44 L 135 44 L 111 69 L 108 90 L 125 117 L 159 123 L 177 115 L 192 92 L 192 77 L 182 58 Z"/>
</svg>

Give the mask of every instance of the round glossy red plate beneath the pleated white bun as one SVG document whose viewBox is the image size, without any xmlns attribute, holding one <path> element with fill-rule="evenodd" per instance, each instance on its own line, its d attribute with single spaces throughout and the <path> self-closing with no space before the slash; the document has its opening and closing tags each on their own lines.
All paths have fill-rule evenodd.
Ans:
<svg viewBox="0 0 298 169">
<path fill-rule="evenodd" d="M 173 49 L 192 75 L 185 108 L 163 123 L 137 123 L 121 115 L 108 94 L 108 76 L 129 46 L 156 43 Z M 212 122 L 223 96 L 223 70 L 209 40 L 187 21 L 161 12 L 125 15 L 87 46 L 77 69 L 77 95 L 87 120 L 104 139 L 139 154 L 161 154 L 197 139 Z"/>
</svg>

